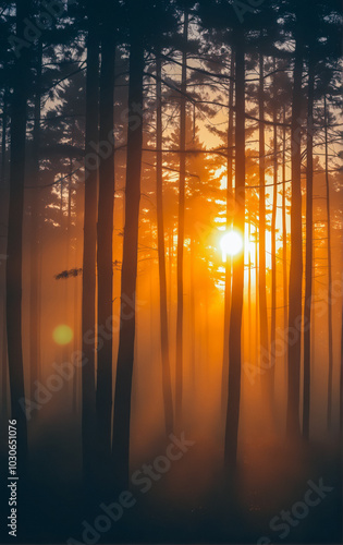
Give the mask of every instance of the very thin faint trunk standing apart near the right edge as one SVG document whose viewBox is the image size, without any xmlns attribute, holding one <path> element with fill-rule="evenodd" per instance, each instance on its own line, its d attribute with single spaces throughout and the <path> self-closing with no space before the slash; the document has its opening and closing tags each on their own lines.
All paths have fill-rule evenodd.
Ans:
<svg viewBox="0 0 343 545">
<path fill-rule="evenodd" d="M 333 346 L 332 346 L 332 257 L 331 257 L 331 218 L 330 218 L 330 183 L 329 183 L 329 156 L 328 156 L 328 109 L 324 95 L 324 129 L 326 129 L 326 187 L 327 187 L 327 218 L 328 218 L 328 331 L 329 331 L 329 378 L 328 378 L 328 429 L 332 426 L 332 373 L 333 373 Z"/>
</svg>

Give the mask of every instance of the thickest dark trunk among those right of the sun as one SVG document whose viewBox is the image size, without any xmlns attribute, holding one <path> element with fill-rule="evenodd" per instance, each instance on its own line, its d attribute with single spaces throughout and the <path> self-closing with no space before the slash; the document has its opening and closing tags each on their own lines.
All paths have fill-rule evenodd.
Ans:
<svg viewBox="0 0 343 545">
<path fill-rule="evenodd" d="M 292 153 L 292 204 L 291 204 L 291 265 L 289 288 L 289 332 L 294 337 L 289 342 L 289 384 L 286 431 L 289 438 L 301 435 L 299 386 L 302 349 L 302 283 L 303 283 L 303 233 L 302 233 L 302 148 L 299 119 L 302 111 L 303 41 L 297 22 L 295 60 L 293 73 L 293 104 L 291 122 Z"/>
</svg>

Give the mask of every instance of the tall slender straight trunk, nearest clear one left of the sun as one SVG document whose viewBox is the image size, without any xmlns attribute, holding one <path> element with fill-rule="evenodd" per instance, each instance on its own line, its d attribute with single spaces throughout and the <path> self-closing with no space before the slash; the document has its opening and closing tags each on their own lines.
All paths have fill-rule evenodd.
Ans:
<svg viewBox="0 0 343 545">
<path fill-rule="evenodd" d="M 185 182 L 186 182 L 186 90 L 187 90 L 187 41 L 188 12 L 184 10 L 181 111 L 180 111 L 180 180 L 179 180 L 179 229 L 177 229 L 177 313 L 176 313 L 176 367 L 175 367 L 175 422 L 182 417 L 183 393 L 183 255 L 185 221 Z"/>
</svg>

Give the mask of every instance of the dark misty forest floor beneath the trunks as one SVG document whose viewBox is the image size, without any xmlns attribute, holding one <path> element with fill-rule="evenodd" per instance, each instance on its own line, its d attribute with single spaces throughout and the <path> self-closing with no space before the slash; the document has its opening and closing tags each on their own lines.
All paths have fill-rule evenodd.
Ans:
<svg viewBox="0 0 343 545">
<path fill-rule="evenodd" d="M 342 543 L 338 445 L 290 448 L 274 437 L 252 438 L 241 445 L 236 482 L 228 485 L 218 445 L 192 437 L 194 445 L 168 471 L 150 479 L 150 485 L 143 484 L 139 473 L 140 484 L 132 485 L 134 505 L 107 524 L 103 517 L 98 519 L 105 514 L 100 505 L 118 501 L 118 494 L 94 496 L 85 505 L 75 447 L 79 437 L 72 427 L 68 437 L 66 424 L 60 426 L 53 427 L 53 434 L 49 428 L 39 434 L 32 449 L 16 543 L 68 543 L 69 538 L 75 540 L 69 543 L 91 544 Z M 166 445 L 156 451 L 166 453 Z M 1 469 L 7 468 L 5 459 L 2 450 Z M 152 456 L 147 463 L 156 460 Z M 1 493 L 1 513 L 5 513 L 5 486 Z M 85 526 L 88 532 L 83 534 Z M 12 541 L 1 524 L 1 542 Z"/>
</svg>

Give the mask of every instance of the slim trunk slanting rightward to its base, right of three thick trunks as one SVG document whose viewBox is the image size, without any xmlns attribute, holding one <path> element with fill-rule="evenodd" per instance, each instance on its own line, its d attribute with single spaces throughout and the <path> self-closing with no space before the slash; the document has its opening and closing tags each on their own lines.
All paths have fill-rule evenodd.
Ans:
<svg viewBox="0 0 343 545">
<path fill-rule="evenodd" d="M 166 433 L 169 436 L 173 431 L 173 401 L 170 376 L 168 307 L 167 307 L 167 274 L 164 251 L 164 220 L 163 220 L 163 175 L 162 175 L 162 86 L 161 86 L 161 57 L 156 56 L 156 95 L 157 95 L 157 133 L 156 133 L 156 205 L 157 205 L 157 235 L 158 235 L 158 267 L 160 279 L 160 335 L 162 356 L 162 391 L 164 402 Z"/>
</svg>

